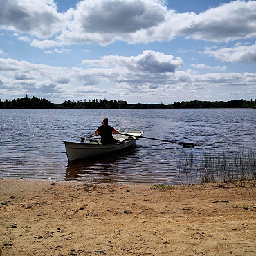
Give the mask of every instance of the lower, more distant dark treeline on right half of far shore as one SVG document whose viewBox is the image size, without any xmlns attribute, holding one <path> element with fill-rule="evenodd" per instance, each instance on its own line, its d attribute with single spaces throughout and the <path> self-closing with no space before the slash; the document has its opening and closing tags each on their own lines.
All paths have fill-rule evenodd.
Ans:
<svg viewBox="0 0 256 256">
<path fill-rule="evenodd" d="M 129 109 L 221 109 L 221 108 L 253 108 L 256 109 L 255 100 L 230 100 L 230 101 L 182 101 L 173 104 L 128 104 Z"/>
</svg>

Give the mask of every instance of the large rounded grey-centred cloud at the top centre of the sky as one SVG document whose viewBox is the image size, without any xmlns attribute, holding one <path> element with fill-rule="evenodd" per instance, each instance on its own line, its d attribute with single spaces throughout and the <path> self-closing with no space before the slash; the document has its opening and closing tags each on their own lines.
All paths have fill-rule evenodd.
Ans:
<svg viewBox="0 0 256 256">
<path fill-rule="evenodd" d="M 80 24 L 85 33 L 134 33 L 158 26 L 166 13 L 165 6 L 157 1 L 87 0 L 77 4 L 71 28 Z"/>
</svg>

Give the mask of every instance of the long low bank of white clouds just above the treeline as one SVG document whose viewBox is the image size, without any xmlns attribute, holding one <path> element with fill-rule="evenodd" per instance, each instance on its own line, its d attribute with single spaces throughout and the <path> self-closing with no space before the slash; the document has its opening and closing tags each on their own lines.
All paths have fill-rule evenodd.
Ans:
<svg viewBox="0 0 256 256">
<path fill-rule="evenodd" d="M 256 93 L 255 73 L 205 73 L 181 71 L 183 62 L 172 55 L 144 51 L 131 57 L 107 55 L 84 60 L 84 68 L 62 68 L 0 58 L 0 95 L 35 94 L 40 97 L 77 100 L 84 98 L 168 97 L 172 93 L 224 91 Z M 93 65 L 93 66 L 89 66 Z M 95 68 L 95 65 L 98 67 Z M 175 72 L 174 72 L 175 71 Z M 2 76 L 1 76 L 2 75 Z M 109 84 L 109 89 L 102 89 Z M 250 92 L 250 94 L 248 94 Z M 210 95 L 210 93 L 208 93 Z M 18 95 L 19 97 L 20 95 Z"/>
</svg>

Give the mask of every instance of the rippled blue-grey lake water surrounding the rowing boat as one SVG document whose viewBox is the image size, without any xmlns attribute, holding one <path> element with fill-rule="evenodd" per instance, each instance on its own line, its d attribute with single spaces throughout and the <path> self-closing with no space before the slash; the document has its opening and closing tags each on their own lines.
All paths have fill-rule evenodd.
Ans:
<svg viewBox="0 0 256 256">
<path fill-rule="evenodd" d="M 104 117 L 120 132 L 199 145 L 140 138 L 115 156 L 68 163 L 62 140 L 91 136 Z M 256 109 L 0 109 L 0 178 L 180 183 L 184 154 L 253 149 L 255 124 Z"/>
</svg>

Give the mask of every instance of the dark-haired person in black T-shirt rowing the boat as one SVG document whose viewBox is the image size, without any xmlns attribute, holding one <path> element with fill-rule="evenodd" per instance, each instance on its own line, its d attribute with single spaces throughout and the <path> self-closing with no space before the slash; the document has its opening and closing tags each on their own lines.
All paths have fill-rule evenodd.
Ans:
<svg viewBox="0 0 256 256">
<path fill-rule="evenodd" d="M 101 144 L 116 144 L 118 143 L 118 140 L 113 138 L 112 134 L 118 134 L 118 131 L 109 126 L 109 119 L 104 118 L 102 120 L 102 125 L 98 127 L 95 132 L 95 136 L 100 135 L 101 136 Z"/>
</svg>

